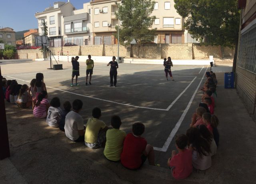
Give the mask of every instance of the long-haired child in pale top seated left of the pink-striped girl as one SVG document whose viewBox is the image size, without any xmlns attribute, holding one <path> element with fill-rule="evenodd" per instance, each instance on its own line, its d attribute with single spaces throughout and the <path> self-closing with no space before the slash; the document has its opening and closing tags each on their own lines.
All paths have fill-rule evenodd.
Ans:
<svg viewBox="0 0 256 184">
<path fill-rule="evenodd" d="M 31 105 L 32 101 L 30 95 L 28 95 L 28 85 L 23 84 L 18 95 L 17 106 L 20 109 L 26 109 L 31 107 Z"/>
</svg>

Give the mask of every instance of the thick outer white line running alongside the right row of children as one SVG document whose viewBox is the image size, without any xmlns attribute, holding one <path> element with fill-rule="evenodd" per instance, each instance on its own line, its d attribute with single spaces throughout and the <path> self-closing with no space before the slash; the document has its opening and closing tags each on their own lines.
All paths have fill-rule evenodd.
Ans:
<svg viewBox="0 0 256 184">
<path fill-rule="evenodd" d="M 205 72 L 207 71 L 207 69 L 208 69 L 208 66 L 207 66 Z M 186 114 L 188 113 L 190 105 L 191 105 L 192 101 L 194 100 L 194 97 L 195 97 L 195 95 L 196 95 L 196 93 L 198 91 L 198 88 L 200 87 L 200 85 L 202 83 L 203 78 L 204 78 L 204 75 L 202 76 L 202 79 L 201 79 L 200 83 L 198 84 L 198 86 L 197 86 L 194 94 L 192 95 L 190 101 L 188 102 L 188 105 L 187 105 L 186 109 L 182 113 L 180 119 L 178 120 L 178 122 L 176 123 L 175 127 L 172 129 L 172 132 L 170 133 L 169 137 L 165 141 L 164 146 L 162 148 L 154 147 L 154 150 L 158 150 L 158 151 L 162 151 L 162 152 L 166 152 L 167 151 L 168 147 L 170 146 L 170 143 L 171 143 L 172 139 L 176 135 L 178 129 L 180 128 L 180 125 L 181 125 L 182 121 L 184 120 Z"/>
</svg>

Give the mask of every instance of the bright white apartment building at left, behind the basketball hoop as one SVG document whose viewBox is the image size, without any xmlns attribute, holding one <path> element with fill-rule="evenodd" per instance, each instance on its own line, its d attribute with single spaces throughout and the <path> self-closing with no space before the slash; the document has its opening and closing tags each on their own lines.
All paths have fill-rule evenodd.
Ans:
<svg viewBox="0 0 256 184">
<path fill-rule="evenodd" d="M 48 38 L 54 40 L 51 46 L 61 46 L 64 35 L 64 17 L 71 16 L 76 8 L 70 2 L 54 2 L 53 6 L 45 8 L 43 12 L 36 12 L 39 35 L 44 34 L 43 21 L 48 26 Z"/>
</svg>

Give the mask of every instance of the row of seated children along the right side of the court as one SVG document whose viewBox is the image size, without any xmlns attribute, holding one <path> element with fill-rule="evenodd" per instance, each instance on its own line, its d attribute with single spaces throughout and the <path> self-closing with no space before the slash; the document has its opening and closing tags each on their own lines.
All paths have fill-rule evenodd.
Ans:
<svg viewBox="0 0 256 184">
<path fill-rule="evenodd" d="M 206 72 L 206 82 L 201 90 L 204 92 L 202 102 L 192 115 L 190 128 L 186 135 L 176 136 L 175 143 L 178 153 L 172 151 L 168 166 L 172 176 L 179 180 L 187 178 L 193 168 L 206 170 L 212 166 L 212 156 L 219 145 L 219 120 L 214 115 L 216 104 L 216 75 Z"/>
</svg>

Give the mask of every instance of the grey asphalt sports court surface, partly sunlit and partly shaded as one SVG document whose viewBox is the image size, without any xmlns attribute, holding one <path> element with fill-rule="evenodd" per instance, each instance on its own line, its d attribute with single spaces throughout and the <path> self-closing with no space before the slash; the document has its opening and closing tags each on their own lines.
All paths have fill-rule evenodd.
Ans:
<svg viewBox="0 0 256 184">
<path fill-rule="evenodd" d="M 67 100 L 72 103 L 74 99 L 81 99 L 84 105 L 80 114 L 84 123 L 91 116 L 93 107 L 102 109 L 101 119 L 107 125 L 110 125 L 112 115 L 119 115 L 121 129 L 126 133 L 131 131 L 134 122 L 144 123 L 146 129 L 142 137 L 156 149 L 156 163 L 161 166 L 166 165 L 171 150 L 175 149 L 174 136 L 186 133 L 192 113 L 201 101 L 204 73 L 210 70 L 202 65 L 176 65 L 172 67 L 176 80 L 173 82 L 170 76 L 166 81 L 163 65 L 120 63 L 117 87 L 114 88 L 109 87 L 110 67 L 106 63 L 95 63 L 92 85 L 86 86 L 86 65 L 80 62 L 79 86 L 71 87 L 72 65 L 60 63 L 64 69 L 56 71 L 47 69 L 48 61 L 0 65 L 6 79 L 16 79 L 20 84 L 29 84 L 36 73 L 44 73 L 49 100 L 58 96 L 63 104 Z"/>
</svg>

